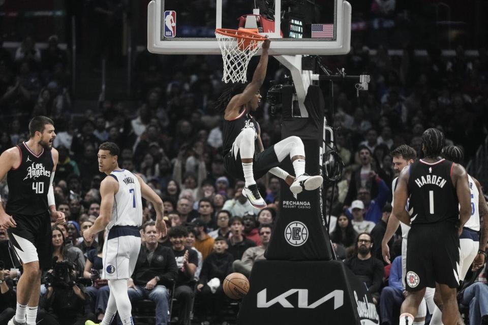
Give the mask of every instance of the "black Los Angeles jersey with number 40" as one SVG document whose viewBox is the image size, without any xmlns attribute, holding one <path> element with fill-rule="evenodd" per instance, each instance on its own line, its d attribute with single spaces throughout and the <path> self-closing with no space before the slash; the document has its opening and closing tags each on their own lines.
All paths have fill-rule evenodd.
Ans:
<svg viewBox="0 0 488 325">
<path fill-rule="evenodd" d="M 54 162 L 51 150 L 43 149 L 36 156 L 25 144 L 17 146 L 20 150 L 20 166 L 7 173 L 9 200 L 8 214 L 38 215 L 46 213 L 47 192 Z"/>
</svg>

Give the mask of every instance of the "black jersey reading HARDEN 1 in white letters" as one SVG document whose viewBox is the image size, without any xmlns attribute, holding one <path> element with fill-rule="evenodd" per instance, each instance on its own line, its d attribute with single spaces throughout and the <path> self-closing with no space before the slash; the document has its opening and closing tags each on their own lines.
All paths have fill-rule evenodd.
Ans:
<svg viewBox="0 0 488 325">
<path fill-rule="evenodd" d="M 451 180 L 454 163 L 441 159 L 425 163 L 422 159 L 410 165 L 408 192 L 412 224 L 459 220 L 459 202 Z"/>
</svg>

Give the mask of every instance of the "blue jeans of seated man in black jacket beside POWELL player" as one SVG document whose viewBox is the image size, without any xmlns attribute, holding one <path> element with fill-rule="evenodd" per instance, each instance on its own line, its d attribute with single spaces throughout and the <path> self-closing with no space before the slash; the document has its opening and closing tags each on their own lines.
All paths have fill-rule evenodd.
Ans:
<svg viewBox="0 0 488 325">
<path fill-rule="evenodd" d="M 152 290 L 136 285 L 136 288 L 129 288 L 127 293 L 131 302 L 141 299 L 154 301 L 156 304 L 156 325 L 166 325 L 168 323 L 169 293 L 164 285 L 157 285 Z"/>
</svg>

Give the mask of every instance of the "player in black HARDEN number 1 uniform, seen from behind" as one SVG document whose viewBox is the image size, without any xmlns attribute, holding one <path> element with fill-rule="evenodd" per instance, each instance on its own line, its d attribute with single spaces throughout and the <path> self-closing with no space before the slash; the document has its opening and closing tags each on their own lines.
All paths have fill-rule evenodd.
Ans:
<svg viewBox="0 0 488 325">
<path fill-rule="evenodd" d="M 425 287 L 435 287 L 436 283 L 444 305 L 442 322 L 457 322 L 459 235 L 471 216 L 471 198 L 466 170 L 439 158 L 443 146 L 442 132 L 426 129 L 422 134 L 424 158 L 401 172 L 395 189 L 393 213 L 400 221 L 411 224 L 407 297 L 400 311 L 400 325 L 412 324 Z M 412 215 L 405 210 L 408 198 Z"/>
</svg>

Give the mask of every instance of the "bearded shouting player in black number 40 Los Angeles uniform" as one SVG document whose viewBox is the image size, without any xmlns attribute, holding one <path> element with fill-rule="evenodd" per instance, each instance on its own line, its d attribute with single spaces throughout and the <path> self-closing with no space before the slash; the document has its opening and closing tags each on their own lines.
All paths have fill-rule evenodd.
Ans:
<svg viewBox="0 0 488 325">
<path fill-rule="evenodd" d="M 65 223 L 56 211 L 52 181 L 58 152 L 52 147 L 54 123 L 45 116 L 29 122 L 30 139 L 0 156 L 0 179 L 7 174 L 9 199 L 0 204 L 0 228 L 7 229 L 12 256 L 22 265 L 17 310 L 9 325 L 36 324 L 42 269 L 52 264 L 51 219 Z"/>
</svg>

